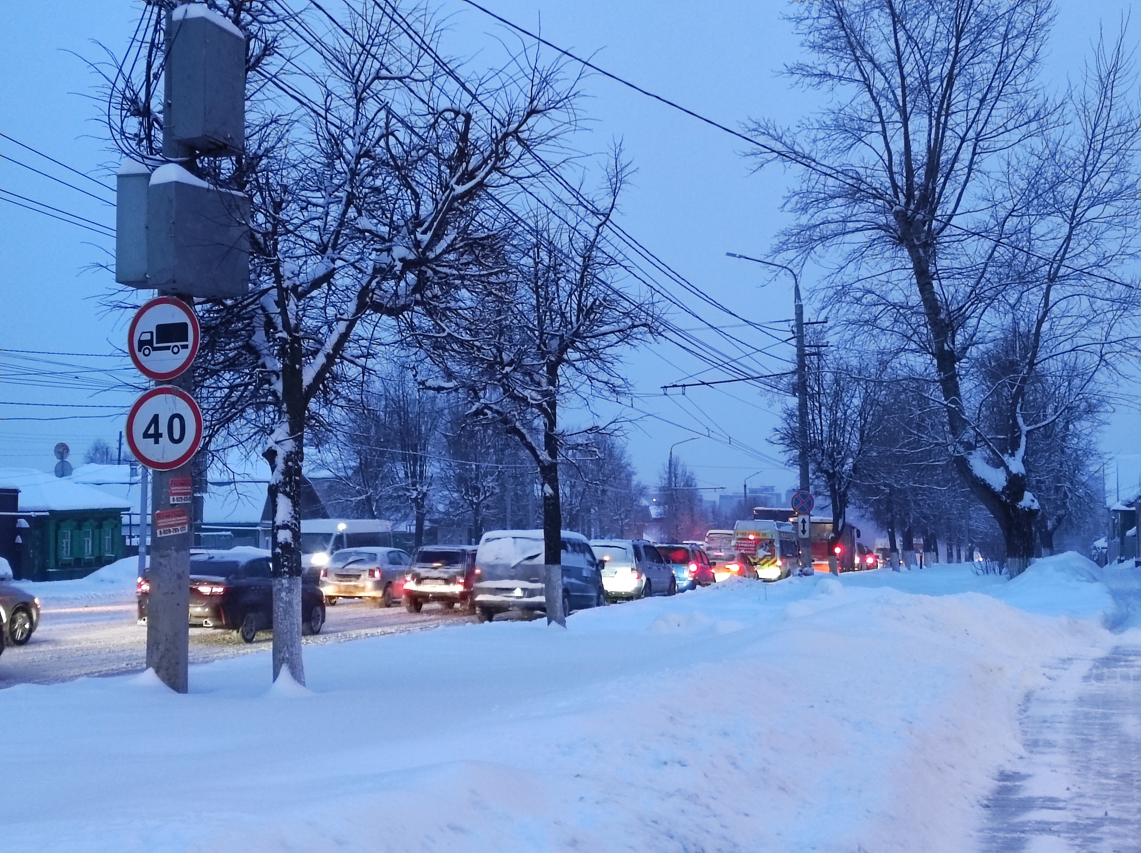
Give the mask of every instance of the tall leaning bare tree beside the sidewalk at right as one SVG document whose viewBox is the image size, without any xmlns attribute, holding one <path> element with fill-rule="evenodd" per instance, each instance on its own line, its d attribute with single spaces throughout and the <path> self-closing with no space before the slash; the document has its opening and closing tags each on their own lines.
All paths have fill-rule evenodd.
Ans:
<svg viewBox="0 0 1141 853">
<path fill-rule="evenodd" d="M 831 95 L 796 131 L 753 125 L 802 169 L 779 250 L 833 265 L 832 298 L 891 348 L 932 366 L 955 470 L 1002 529 L 1012 575 L 1037 503 L 1023 412 L 1044 359 L 1089 376 L 1128 351 L 1141 123 L 1123 41 L 1099 43 L 1083 86 L 1047 97 L 1049 0 L 819 0 L 790 17 L 812 58 L 788 73 Z M 768 155 L 767 155 L 768 156 Z M 1029 346 L 998 440 L 971 414 L 969 360 L 1001 334 L 1004 299 L 1029 308 Z"/>
</svg>

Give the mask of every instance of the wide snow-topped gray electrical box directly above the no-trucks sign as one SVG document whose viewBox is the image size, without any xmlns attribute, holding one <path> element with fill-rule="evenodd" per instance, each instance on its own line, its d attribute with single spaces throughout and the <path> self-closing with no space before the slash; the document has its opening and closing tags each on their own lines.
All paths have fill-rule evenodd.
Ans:
<svg viewBox="0 0 1141 853">
<path fill-rule="evenodd" d="M 154 170 L 147 193 L 147 287 L 230 299 L 250 285 L 250 200 L 180 165 Z"/>
</svg>

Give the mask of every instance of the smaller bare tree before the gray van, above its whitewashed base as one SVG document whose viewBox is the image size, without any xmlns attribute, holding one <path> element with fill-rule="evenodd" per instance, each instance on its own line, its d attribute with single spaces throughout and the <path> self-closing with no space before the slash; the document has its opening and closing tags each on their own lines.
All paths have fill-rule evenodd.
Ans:
<svg viewBox="0 0 1141 853">
<path fill-rule="evenodd" d="M 510 267 L 470 301 L 427 310 L 419 334 L 442 374 L 435 388 L 460 393 L 471 417 L 495 423 L 534 460 L 543 506 L 544 560 L 561 561 L 559 464 L 569 446 L 600 428 L 567 430 L 560 411 L 591 393 L 626 388 L 617 350 L 654 328 L 653 304 L 618 290 L 621 268 L 602 247 L 624 180 L 615 157 L 601 203 L 533 214 L 517 235 Z"/>
</svg>

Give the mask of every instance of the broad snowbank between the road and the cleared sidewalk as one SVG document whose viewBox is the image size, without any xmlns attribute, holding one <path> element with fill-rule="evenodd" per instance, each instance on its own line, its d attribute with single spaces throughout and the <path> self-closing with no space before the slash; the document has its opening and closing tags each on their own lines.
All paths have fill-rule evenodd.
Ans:
<svg viewBox="0 0 1141 853">
<path fill-rule="evenodd" d="M 306 688 L 270 689 L 265 653 L 192 668 L 188 697 L 11 688 L 0 822 L 52 851 L 974 850 L 1027 691 L 1110 642 L 1084 568 L 738 580 L 567 631 L 319 644 Z"/>
</svg>

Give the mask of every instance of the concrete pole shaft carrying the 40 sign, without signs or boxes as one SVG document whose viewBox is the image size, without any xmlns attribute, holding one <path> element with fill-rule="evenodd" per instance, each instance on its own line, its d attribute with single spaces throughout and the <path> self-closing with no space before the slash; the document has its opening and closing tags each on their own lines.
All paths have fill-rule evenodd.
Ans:
<svg viewBox="0 0 1141 853">
<path fill-rule="evenodd" d="M 163 294 L 172 295 L 172 294 Z M 193 304 L 192 300 L 185 300 Z M 193 310 L 193 309 L 192 309 Z M 167 384 L 194 395 L 194 368 L 189 367 Z M 194 460 L 169 471 L 154 471 L 151 509 L 151 593 L 147 600 L 146 665 L 162 682 L 179 693 L 189 689 L 191 628 L 191 529 L 160 528 L 160 512 L 178 509 L 170 502 L 170 481 L 191 477 Z M 176 498 L 177 499 L 177 498 Z M 173 530 L 173 531 L 171 531 Z"/>
</svg>

